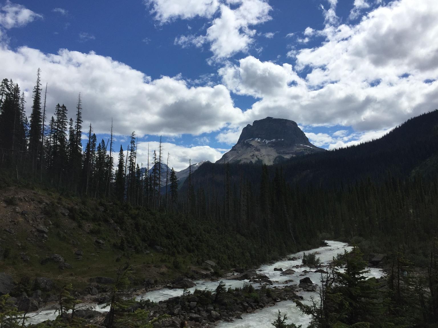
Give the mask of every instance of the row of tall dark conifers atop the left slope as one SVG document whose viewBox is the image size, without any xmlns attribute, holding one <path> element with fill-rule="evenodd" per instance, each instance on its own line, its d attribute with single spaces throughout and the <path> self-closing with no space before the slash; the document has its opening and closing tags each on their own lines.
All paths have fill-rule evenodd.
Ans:
<svg viewBox="0 0 438 328">
<path fill-rule="evenodd" d="M 137 161 L 138 138 L 133 132 L 127 149 L 120 145 L 114 167 L 113 124 L 108 140 L 100 142 L 91 124 L 83 131 L 81 94 L 78 94 L 73 117 L 69 119 L 67 107 L 58 103 L 54 116 L 46 120 L 46 94 L 47 84 L 43 89 L 38 69 L 28 119 L 24 92 L 12 80 L 1 81 L 1 167 L 14 172 L 17 181 L 30 178 L 58 192 L 115 199 L 153 209 L 167 209 L 177 202 L 176 171 L 167 165 L 166 169 L 163 167 L 161 138 L 158 152 L 154 150 L 151 162 L 148 156 L 147 167 L 143 167 L 143 163 Z M 85 147 L 83 139 L 87 140 Z M 167 154 L 167 164 L 169 156 Z M 160 192 L 163 184 L 165 192 Z"/>
</svg>

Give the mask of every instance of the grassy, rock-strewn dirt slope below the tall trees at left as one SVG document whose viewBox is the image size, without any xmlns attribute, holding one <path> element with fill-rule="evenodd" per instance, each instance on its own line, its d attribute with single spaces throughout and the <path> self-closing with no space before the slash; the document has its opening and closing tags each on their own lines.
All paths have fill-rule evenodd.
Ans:
<svg viewBox="0 0 438 328">
<path fill-rule="evenodd" d="M 14 200 L 11 201 L 11 197 Z M 74 211 L 64 216 L 60 213 L 61 208 Z M 90 277 L 114 276 L 117 267 L 125 261 L 133 265 L 139 282 L 146 278 L 172 279 L 187 273 L 186 268 L 191 264 L 187 256 L 175 255 L 185 264 L 181 269 L 175 269 L 174 257 L 165 253 L 150 250 L 146 254 L 129 248 L 126 251 L 114 248 L 113 242 L 118 243 L 124 233 L 116 223 L 102 224 L 95 220 L 95 216 L 111 216 L 113 209 L 111 203 L 88 201 L 84 205 L 80 199 L 38 189 L 10 187 L 0 190 L 0 271 L 11 274 L 17 281 L 24 276 L 31 279 L 48 277 L 59 283 L 73 282 L 76 288 L 85 286 Z M 23 215 L 22 210 L 29 213 Z M 49 229 L 47 239 L 36 233 L 38 226 Z M 13 234 L 6 229 L 12 230 Z M 96 238 L 105 241 L 105 245 L 96 244 Z M 74 255 L 78 249 L 84 253 L 81 260 L 76 260 Z M 7 258 L 3 257 L 5 251 L 9 253 Z M 30 260 L 24 262 L 21 253 Z M 60 270 L 53 262 L 40 264 L 42 258 L 53 253 L 60 254 L 73 269 Z"/>
</svg>

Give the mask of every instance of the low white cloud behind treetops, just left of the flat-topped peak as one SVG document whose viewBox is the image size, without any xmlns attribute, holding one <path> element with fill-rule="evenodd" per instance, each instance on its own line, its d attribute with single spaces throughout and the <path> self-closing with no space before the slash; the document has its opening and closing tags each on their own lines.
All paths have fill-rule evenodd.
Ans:
<svg viewBox="0 0 438 328">
<path fill-rule="evenodd" d="M 152 154 L 154 149 L 158 150 L 159 143 L 155 141 L 138 143 L 137 161 L 139 164 L 143 163 L 143 167 L 148 165 L 148 147 L 149 161 L 152 161 Z M 162 147 L 162 154 L 165 154 L 165 161 L 167 160 L 167 153 L 169 153 L 169 166 L 173 167 L 175 171 L 181 171 L 188 167 L 189 160 L 191 160 L 192 163 L 199 163 L 200 161 L 211 161 L 214 163 L 226 152 L 226 150 L 209 146 L 184 147 L 174 143 L 162 143 Z"/>
</svg>

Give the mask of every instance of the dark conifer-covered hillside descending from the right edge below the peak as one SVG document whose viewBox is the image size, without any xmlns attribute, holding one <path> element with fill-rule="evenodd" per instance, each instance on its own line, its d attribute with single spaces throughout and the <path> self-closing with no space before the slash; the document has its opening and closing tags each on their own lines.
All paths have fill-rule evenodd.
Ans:
<svg viewBox="0 0 438 328">
<path fill-rule="evenodd" d="M 381 139 L 281 164 L 204 164 L 184 185 L 187 210 L 242 234 L 263 227 L 268 243 L 328 234 L 427 257 L 438 228 L 437 158 L 435 110 Z"/>
</svg>

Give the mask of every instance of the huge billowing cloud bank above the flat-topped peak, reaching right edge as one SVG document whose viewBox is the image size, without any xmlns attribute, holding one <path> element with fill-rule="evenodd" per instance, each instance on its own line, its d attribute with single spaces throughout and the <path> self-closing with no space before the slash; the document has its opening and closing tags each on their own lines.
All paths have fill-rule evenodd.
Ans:
<svg viewBox="0 0 438 328">
<path fill-rule="evenodd" d="M 273 116 L 381 131 L 433 110 L 438 105 L 436 17 L 434 0 L 393 1 L 356 25 L 327 23 L 314 31 L 325 41 L 294 49 L 294 67 L 248 56 L 221 68 L 231 91 L 257 98 L 236 126 Z M 230 130 L 221 138 L 232 135 Z"/>
</svg>

